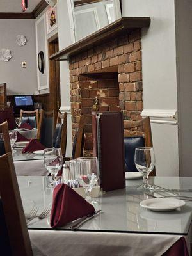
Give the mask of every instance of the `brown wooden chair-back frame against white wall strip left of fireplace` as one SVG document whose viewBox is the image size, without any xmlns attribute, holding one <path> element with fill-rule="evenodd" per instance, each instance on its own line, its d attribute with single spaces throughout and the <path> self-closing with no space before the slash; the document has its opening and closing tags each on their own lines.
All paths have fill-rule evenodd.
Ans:
<svg viewBox="0 0 192 256">
<path fill-rule="evenodd" d="M 58 112 L 56 124 L 63 124 L 62 131 L 61 131 L 60 148 L 62 150 L 63 156 L 65 157 L 66 147 L 67 147 L 67 112 L 63 114 Z"/>
</svg>

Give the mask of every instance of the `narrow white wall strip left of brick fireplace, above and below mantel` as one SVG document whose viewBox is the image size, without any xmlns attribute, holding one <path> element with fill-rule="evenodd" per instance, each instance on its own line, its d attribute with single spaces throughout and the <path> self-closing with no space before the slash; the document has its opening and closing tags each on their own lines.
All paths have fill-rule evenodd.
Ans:
<svg viewBox="0 0 192 256">
<path fill-rule="evenodd" d="M 67 1 L 58 0 L 58 34 L 60 50 L 72 44 L 70 19 Z M 66 156 L 72 156 L 72 124 L 70 115 L 70 81 L 67 61 L 60 61 L 61 111 L 67 111 L 67 150 Z"/>
</svg>

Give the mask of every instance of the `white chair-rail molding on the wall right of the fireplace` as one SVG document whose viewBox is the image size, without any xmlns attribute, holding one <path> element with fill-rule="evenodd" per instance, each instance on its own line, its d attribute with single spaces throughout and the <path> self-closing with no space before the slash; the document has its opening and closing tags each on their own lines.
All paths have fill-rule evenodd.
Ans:
<svg viewBox="0 0 192 256">
<path fill-rule="evenodd" d="M 149 116 L 152 123 L 178 124 L 177 109 L 143 109 L 141 116 Z"/>
</svg>

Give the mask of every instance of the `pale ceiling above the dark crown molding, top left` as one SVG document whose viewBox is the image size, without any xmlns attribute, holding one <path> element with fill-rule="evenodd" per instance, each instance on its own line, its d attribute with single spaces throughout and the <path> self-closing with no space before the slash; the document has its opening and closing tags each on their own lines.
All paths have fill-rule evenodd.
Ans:
<svg viewBox="0 0 192 256">
<path fill-rule="evenodd" d="M 41 0 L 28 0 L 26 12 L 32 12 Z M 0 0 L 0 12 L 22 12 L 21 0 Z"/>
</svg>

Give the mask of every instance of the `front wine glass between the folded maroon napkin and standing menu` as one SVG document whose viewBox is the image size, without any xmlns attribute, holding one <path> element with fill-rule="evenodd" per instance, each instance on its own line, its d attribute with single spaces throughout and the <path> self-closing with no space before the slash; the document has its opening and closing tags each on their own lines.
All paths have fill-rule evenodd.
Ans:
<svg viewBox="0 0 192 256">
<path fill-rule="evenodd" d="M 93 186 L 99 179 L 99 163 L 97 157 L 77 158 L 76 179 L 85 188 L 85 199 L 91 204 L 97 204 L 91 198 Z"/>
</svg>

